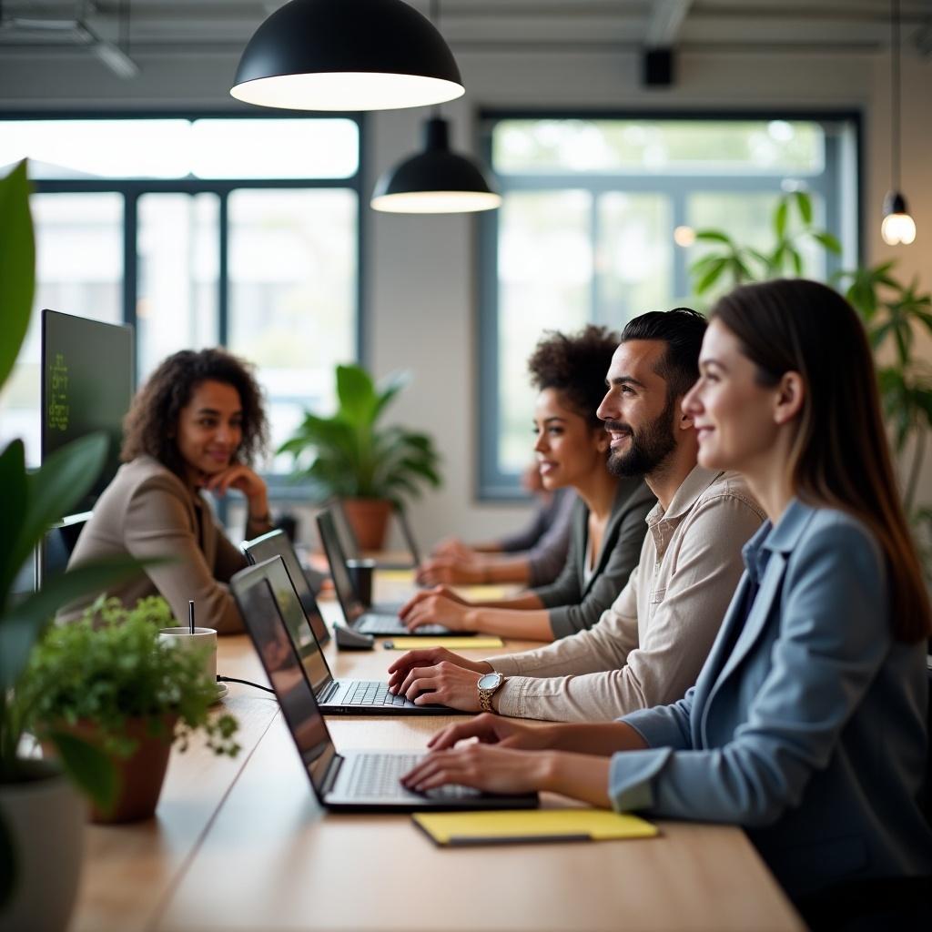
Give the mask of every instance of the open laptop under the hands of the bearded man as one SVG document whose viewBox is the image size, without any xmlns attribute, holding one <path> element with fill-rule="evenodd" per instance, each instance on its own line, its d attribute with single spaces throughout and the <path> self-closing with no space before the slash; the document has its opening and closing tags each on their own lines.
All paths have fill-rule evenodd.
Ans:
<svg viewBox="0 0 932 932">
<path fill-rule="evenodd" d="M 263 624 L 267 618 L 277 619 L 277 631 L 280 640 L 283 638 L 280 649 L 290 645 L 297 652 L 315 701 L 327 715 L 462 714 L 448 706 L 416 706 L 410 699 L 389 692 L 387 682 L 334 679 L 281 556 L 240 569 L 230 580 L 230 588 L 247 630 L 252 631 L 255 624 Z"/>
</svg>

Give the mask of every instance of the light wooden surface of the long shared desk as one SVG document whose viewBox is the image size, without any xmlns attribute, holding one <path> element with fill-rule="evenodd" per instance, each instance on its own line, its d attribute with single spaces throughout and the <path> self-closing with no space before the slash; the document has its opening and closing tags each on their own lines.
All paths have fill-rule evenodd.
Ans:
<svg viewBox="0 0 932 932">
<path fill-rule="evenodd" d="M 384 678 L 397 656 L 326 653 L 356 678 Z M 266 681 L 245 636 L 220 639 L 217 669 Z M 236 760 L 174 751 L 155 819 L 88 827 L 73 930 L 803 928 L 740 829 L 661 822 L 654 839 L 442 850 L 409 816 L 326 815 L 275 701 L 231 683 L 224 705 L 240 719 Z M 420 749 L 451 720 L 327 723 L 336 747 Z"/>
</svg>

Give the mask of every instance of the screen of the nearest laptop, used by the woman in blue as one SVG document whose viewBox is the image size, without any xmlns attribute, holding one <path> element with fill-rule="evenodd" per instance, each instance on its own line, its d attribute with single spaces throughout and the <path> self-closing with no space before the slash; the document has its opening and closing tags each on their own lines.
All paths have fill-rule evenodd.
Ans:
<svg viewBox="0 0 932 932">
<path fill-rule="evenodd" d="M 288 731 L 295 739 L 301 762 L 318 799 L 322 799 L 324 781 L 336 748 L 262 569 L 262 566 L 243 569 L 233 577 L 230 586 L 268 681 L 278 697 Z"/>
</svg>

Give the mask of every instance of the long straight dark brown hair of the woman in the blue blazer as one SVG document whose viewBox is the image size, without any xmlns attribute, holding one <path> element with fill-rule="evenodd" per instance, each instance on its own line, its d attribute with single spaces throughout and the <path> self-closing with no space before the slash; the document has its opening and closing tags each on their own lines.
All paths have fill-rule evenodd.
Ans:
<svg viewBox="0 0 932 932">
<path fill-rule="evenodd" d="M 870 528 L 886 558 L 894 637 L 906 643 L 928 637 L 929 597 L 899 500 L 870 346 L 854 308 L 816 281 L 785 279 L 736 288 L 710 319 L 738 338 L 761 385 L 776 385 L 787 372 L 802 376 L 790 459 L 794 491 Z"/>
</svg>

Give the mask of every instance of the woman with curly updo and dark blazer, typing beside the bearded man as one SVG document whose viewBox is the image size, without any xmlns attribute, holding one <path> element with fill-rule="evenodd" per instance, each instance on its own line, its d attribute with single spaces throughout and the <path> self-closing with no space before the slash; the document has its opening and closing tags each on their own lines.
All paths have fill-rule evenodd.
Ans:
<svg viewBox="0 0 932 932">
<path fill-rule="evenodd" d="M 439 622 L 500 637 L 554 640 L 592 627 L 637 565 L 655 499 L 643 479 L 609 472 L 609 434 L 596 417 L 619 336 L 605 327 L 544 336 L 528 361 L 538 390 L 534 451 L 548 491 L 575 489 L 569 556 L 554 583 L 496 602 L 470 602 L 445 586 L 401 611 L 417 628 Z"/>
</svg>

